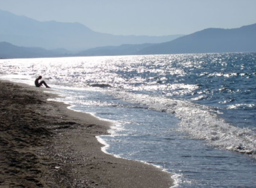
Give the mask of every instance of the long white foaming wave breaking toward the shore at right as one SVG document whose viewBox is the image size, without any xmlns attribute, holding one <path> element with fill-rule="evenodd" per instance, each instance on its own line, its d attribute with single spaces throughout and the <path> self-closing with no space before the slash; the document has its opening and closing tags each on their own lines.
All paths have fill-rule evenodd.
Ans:
<svg viewBox="0 0 256 188">
<path fill-rule="evenodd" d="M 179 131 L 188 133 L 193 139 L 206 140 L 213 147 L 256 157 L 256 134 L 251 129 L 228 124 L 213 113 L 211 107 L 186 100 L 134 94 L 120 90 L 107 92 L 122 100 L 147 105 L 152 110 L 174 114 L 181 120 Z"/>
</svg>

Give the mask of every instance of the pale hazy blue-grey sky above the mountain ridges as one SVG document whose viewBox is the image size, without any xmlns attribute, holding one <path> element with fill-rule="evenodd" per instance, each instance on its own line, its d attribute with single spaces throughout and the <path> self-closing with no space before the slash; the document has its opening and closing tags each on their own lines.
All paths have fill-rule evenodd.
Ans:
<svg viewBox="0 0 256 188">
<path fill-rule="evenodd" d="M 190 34 L 256 23 L 256 0 L 0 0 L 0 9 L 122 35 Z"/>
</svg>

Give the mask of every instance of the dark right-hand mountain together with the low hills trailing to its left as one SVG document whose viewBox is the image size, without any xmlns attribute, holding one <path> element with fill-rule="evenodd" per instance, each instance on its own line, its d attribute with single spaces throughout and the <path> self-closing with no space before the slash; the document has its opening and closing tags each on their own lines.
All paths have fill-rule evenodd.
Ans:
<svg viewBox="0 0 256 188">
<path fill-rule="evenodd" d="M 207 28 L 161 44 L 108 46 L 78 55 L 150 55 L 256 52 L 256 24 L 233 29 Z"/>
</svg>

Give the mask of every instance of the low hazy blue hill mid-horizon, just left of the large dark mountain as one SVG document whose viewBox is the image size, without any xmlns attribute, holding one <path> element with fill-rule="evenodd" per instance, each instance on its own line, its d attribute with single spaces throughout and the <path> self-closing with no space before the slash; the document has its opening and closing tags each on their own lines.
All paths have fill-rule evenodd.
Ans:
<svg viewBox="0 0 256 188">
<path fill-rule="evenodd" d="M 121 45 L 121 46 L 106 46 L 97 47 L 82 51 L 77 56 L 103 56 L 103 55 L 134 55 L 140 50 L 154 46 L 155 44 L 142 44 L 142 45 Z"/>
</svg>

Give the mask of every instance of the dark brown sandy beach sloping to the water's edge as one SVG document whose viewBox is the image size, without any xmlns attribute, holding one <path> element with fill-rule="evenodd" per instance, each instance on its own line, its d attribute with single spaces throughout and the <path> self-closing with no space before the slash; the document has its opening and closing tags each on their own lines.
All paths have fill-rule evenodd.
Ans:
<svg viewBox="0 0 256 188">
<path fill-rule="evenodd" d="M 0 81 L 0 187 L 168 188 L 170 173 L 101 151 L 110 124 Z"/>
</svg>

